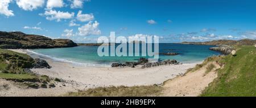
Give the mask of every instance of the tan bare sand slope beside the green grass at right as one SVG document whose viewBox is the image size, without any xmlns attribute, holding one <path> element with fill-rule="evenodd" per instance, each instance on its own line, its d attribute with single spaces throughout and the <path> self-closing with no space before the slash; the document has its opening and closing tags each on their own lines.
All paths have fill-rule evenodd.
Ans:
<svg viewBox="0 0 256 108">
<path fill-rule="evenodd" d="M 205 74 L 210 64 L 213 64 L 215 68 Z M 218 68 L 221 68 L 220 65 L 211 62 L 195 72 L 189 72 L 184 76 L 164 82 L 163 96 L 194 97 L 200 95 L 205 87 L 217 77 L 216 69 Z"/>
</svg>

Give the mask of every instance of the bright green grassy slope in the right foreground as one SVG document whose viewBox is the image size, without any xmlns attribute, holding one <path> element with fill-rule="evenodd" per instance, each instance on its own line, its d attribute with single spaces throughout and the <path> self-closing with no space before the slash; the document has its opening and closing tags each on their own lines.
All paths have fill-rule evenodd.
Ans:
<svg viewBox="0 0 256 108">
<path fill-rule="evenodd" d="M 225 67 L 201 96 L 256 96 L 256 48 L 238 49 L 237 56 L 224 57 Z"/>
</svg>

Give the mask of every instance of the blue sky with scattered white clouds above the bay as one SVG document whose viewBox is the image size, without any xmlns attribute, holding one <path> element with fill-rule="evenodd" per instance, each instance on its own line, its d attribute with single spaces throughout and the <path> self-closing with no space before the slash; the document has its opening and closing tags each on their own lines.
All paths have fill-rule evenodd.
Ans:
<svg viewBox="0 0 256 108">
<path fill-rule="evenodd" d="M 0 31 L 80 43 L 99 36 L 160 37 L 161 43 L 256 39 L 253 0 L 2 0 Z"/>
</svg>

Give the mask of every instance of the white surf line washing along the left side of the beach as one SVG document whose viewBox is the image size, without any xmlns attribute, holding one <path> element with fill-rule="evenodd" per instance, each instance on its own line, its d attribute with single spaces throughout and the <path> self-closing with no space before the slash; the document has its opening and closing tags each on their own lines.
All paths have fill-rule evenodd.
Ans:
<svg viewBox="0 0 256 108">
<path fill-rule="evenodd" d="M 27 49 L 27 52 L 34 53 L 35 55 L 46 57 L 46 58 L 51 59 L 53 61 L 63 62 L 63 63 L 71 63 L 71 64 L 79 65 L 79 66 L 82 66 L 82 67 L 110 67 L 110 64 L 80 63 L 80 62 L 77 62 L 77 61 L 72 61 L 72 60 L 67 60 L 67 59 L 60 59 L 60 58 L 57 58 L 57 57 L 52 57 L 52 56 L 44 55 L 42 53 L 34 52 L 34 51 L 29 50 L 29 49 Z"/>
</svg>

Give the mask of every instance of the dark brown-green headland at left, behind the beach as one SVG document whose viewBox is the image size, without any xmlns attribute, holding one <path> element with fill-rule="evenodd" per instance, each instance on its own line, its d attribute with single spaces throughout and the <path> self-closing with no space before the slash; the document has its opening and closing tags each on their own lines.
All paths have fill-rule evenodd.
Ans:
<svg viewBox="0 0 256 108">
<path fill-rule="evenodd" d="M 0 31 L 0 48 L 4 49 L 35 49 L 35 48 L 60 48 L 77 46 L 69 39 L 50 39 L 40 35 L 28 35 L 23 32 Z"/>
</svg>

